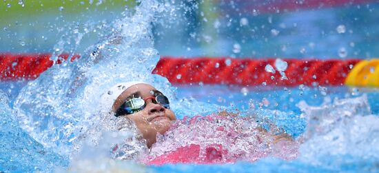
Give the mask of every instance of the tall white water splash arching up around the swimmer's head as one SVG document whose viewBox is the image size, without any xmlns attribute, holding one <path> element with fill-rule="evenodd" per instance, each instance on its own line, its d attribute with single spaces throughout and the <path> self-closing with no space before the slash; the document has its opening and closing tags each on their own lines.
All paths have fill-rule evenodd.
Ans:
<svg viewBox="0 0 379 173">
<path fill-rule="evenodd" d="M 172 109 L 179 118 L 220 108 L 191 99 L 178 101 L 175 88 L 167 79 L 151 74 L 159 59 L 152 40 L 152 23 L 156 22 L 157 14 L 172 14 L 173 9 L 169 1 L 141 1 L 133 12 L 125 11 L 125 18 L 104 27 L 104 30 L 112 28 L 112 33 L 88 48 L 79 60 L 63 61 L 30 81 L 14 101 L 21 128 L 49 150 L 73 158 L 83 141 L 91 139 L 93 145 L 99 145 L 102 138 L 99 132 L 118 130 L 122 120 L 102 108 L 99 98 L 112 85 L 123 81 L 151 83 L 173 102 Z M 76 29 L 72 32 L 78 34 L 54 46 L 52 60 L 58 61 L 57 54 L 63 51 L 74 52 L 81 43 L 84 33 Z M 127 130 L 135 132 L 130 127 Z M 143 150 L 139 145 L 136 142 L 133 150 Z"/>
</svg>

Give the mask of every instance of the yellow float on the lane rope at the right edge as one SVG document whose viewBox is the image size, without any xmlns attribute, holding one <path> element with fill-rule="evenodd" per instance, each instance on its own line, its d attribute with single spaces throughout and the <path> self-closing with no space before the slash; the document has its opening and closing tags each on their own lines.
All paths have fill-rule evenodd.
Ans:
<svg viewBox="0 0 379 173">
<path fill-rule="evenodd" d="M 379 59 L 356 63 L 347 75 L 345 85 L 379 87 Z"/>
</svg>

